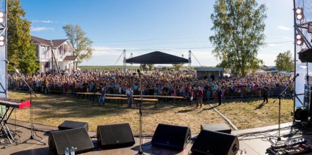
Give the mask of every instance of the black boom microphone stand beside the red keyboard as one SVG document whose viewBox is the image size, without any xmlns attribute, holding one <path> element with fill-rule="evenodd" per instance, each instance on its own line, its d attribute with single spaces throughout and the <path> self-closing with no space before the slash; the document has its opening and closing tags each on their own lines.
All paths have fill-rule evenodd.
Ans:
<svg viewBox="0 0 312 155">
<path fill-rule="evenodd" d="M 10 64 L 12 64 L 12 63 L 10 63 Z M 37 97 L 37 95 L 35 94 L 35 92 L 31 89 L 31 87 L 27 84 L 27 82 L 25 81 L 24 76 L 23 76 L 21 73 L 19 73 L 19 71 L 16 69 L 16 67 L 14 66 L 14 64 L 12 64 L 12 66 L 13 66 L 13 68 L 15 69 L 15 71 L 18 73 L 18 75 L 22 78 L 22 80 L 23 80 L 23 82 L 26 84 L 26 86 L 28 87 L 29 96 L 30 96 L 30 125 L 31 125 L 30 130 L 31 130 L 31 135 L 30 135 L 30 138 L 28 138 L 27 140 L 25 140 L 25 141 L 23 141 L 23 142 L 21 142 L 21 143 L 18 143 L 18 145 L 19 145 L 19 144 L 23 144 L 23 143 L 27 143 L 28 140 L 35 140 L 35 141 L 37 141 L 37 142 L 39 142 L 39 143 L 42 143 L 42 145 L 46 145 L 46 143 L 41 142 L 40 140 L 37 140 L 37 139 L 35 138 L 35 135 L 34 135 L 34 133 L 35 133 L 34 130 L 35 130 L 35 129 L 34 129 L 34 124 L 33 124 L 33 108 L 32 108 L 33 103 L 32 103 L 32 95 L 34 95 L 36 98 L 38 98 L 38 97 Z"/>
</svg>

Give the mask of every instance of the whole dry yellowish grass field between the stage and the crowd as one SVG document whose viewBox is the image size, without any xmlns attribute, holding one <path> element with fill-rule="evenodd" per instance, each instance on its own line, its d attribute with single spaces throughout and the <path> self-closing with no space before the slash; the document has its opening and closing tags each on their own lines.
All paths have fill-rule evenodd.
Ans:
<svg viewBox="0 0 312 155">
<path fill-rule="evenodd" d="M 28 99 L 27 92 L 10 91 L 10 98 Z M 84 121 L 89 123 L 89 130 L 96 131 L 98 125 L 129 122 L 135 134 L 139 133 L 138 109 L 127 108 L 125 104 L 106 103 L 105 107 L 92 106 L 92 101 L 77 99 L 72 95 L 38 94 L 33 100 L 34 122 L 58 126 L 64 120 Z M 260 98 L 225 100 L 216 108 L 228 117 L 239 129 L 277 124 L 278 103 L 262 102 Z M 216 103 L 210 101 L 210 103 Z M 196 108 L 186 102 L 177 104 L 145 103 L 143 109 L 143 133 L 153 134 L 158 123 L 188 125 L 193 133 L 200 131 L 201 124 L 221 123 L 224 120 L 208 105 Z M 291 121 L 292 100 L 282 100 L 282 122 Z M 29 121 L 29 108 L 17 109 L 16 119 Z M 11 118 L 14 119 L 14 113 Z"/>
</svg>

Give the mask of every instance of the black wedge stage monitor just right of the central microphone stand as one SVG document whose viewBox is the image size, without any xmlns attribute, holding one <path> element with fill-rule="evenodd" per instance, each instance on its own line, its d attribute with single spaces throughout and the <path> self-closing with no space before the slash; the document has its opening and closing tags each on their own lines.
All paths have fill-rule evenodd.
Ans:
<svg viewBox="0 0 312 155">
<path fill-rule="evenodd" d="M 151 144 L 184 150 L 191 139 L 191 129 L 188 126 L 158 124 Z"/>
</svg>

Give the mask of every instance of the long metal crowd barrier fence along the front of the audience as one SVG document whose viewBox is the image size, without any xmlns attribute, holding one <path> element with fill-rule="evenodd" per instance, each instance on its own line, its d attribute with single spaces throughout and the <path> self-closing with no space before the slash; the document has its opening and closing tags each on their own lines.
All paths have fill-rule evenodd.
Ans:
<svg viewBox="0 0 312 155">
<path fill-rule="evenodd" d="M 78 92 L 99 92 L 101 89 L 93 88 L 93 89 L 86 89 L 83 86 L 79 85 L 48 85 L 42 86 L 41 84 L 37 84 L 35 82 L 28 83 L 29 86 L 34 91 L 40 91 L 44 93 L 60 93 L 60 94 L 75 94 Z M 19 90 L 28 90 L 26 84 L 23 82 L 9 82 L 8 83 L 9 89 L 19 89 Z M 115 87 L 106 87 L 105 88 L 107 94 L 125 94 L 124 88 L 115 88 Z M 277 96 L 284 90 L 283 87 L 273 87 L 268 88 L 268 95 L 269 96 Z M 145 89 L 142 92 L 143 95 L 154 95 L 154 96 L 179 96 L 179 97 L 186 97 L 189 95 L 188 92 L 185 90 L 177 89 L 177 90 L 168 90 L 167 94 L 164 94 L 162 89 Z M 205 90 L 203 89 L 203 98 L 204 99 L 216 99 L 217 98 L 217 90 Z M 293 94 L 293 88 L 288 88 L 285 91 L 284 96 L 291 96 Z M 140 95 L 139 90 L 134 90 L 134 95 Z M 222 89 L 221 97 L 224 98 L 244 98 L 244 97 L 261 97 L 263 95 L 263 88 L 233 88 L 233 89 Z M 193 98 L 196 98 L 196 91 L 193 92 Z"/>
</svg>

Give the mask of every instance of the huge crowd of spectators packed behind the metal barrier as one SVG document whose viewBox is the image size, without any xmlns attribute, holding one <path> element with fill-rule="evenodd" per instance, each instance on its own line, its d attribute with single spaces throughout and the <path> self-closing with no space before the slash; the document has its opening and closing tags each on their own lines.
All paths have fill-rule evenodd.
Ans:
<svg viewBox="0 0 312 155">
<path fill-rule="evenodd" d="M 139 84 L 139 74 L 131 72 L 80 70 L 61 71 L 60 73 L 41 73 L 26 76 L 26 81 L 35 90 L 61 92 L 73 94 L 77 92 L 100 92 L 104 88 L 106 93 L 125 94 L 131 88 L 134 94 L 163 95 L 163 96 L 191 96 L 196 97 L 196 90 L 203 90 L 203 98 L 221 96 L 258 96 L 266 86 L 271 94 L 278 94 L 285 89 L 291 80 L 291 75 L 251 75 L 246 77 L 224 76 L 220 79 L 206 78 L 199 80 L 195 73 L 180 71 L 145 71 L 141 72 L 142 87 Z M 25 89 L 25 84 L 16 75 L 9 75 L 9 87 Z M 292 88 L 291 88 L 292 89 Z M 291 93 L 292 90 L 289 91 Z"/>
</svg>

